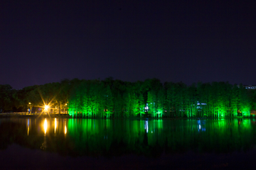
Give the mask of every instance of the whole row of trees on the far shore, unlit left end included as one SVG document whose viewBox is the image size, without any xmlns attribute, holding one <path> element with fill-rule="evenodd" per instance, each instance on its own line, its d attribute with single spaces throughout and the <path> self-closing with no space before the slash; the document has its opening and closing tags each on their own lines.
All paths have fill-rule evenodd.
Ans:
<svg viewBox="0 0 256 170">
<path fill-rule="evenodd" d="M 242 84 L 212 82 L 161 83 L 159 79 L 122 81 L 63 79 L 60 82 L 12 89 L 0 85 L 0 112 L 66 112 L 81 118 L 230 118 L 255 110 L 256 91 Z M 28 110 L 31 108 L 31 110 Z"/>
</svg>

